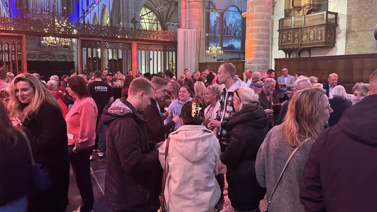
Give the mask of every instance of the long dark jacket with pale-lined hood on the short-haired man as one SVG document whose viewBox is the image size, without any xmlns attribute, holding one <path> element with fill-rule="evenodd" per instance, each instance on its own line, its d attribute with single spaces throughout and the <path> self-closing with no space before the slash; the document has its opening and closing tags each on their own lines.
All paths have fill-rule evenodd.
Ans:
<svg viewBox="0 0 377 212">
<path fill-rule="evenodd" d="M 158 150 L 148 145 L 147 123 L 125 98 L 108 104 L 105 201 L 111 211 L 156 212 L 162 168 Z"/>
</svg>

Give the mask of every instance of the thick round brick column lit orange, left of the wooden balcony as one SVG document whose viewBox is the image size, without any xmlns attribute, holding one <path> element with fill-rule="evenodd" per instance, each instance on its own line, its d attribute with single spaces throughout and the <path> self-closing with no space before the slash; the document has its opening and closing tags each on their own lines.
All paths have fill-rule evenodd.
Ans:
<svg viewBox="0 0 377 212">
<path fill-rule="evenodd" d="M 269 69 L 272 0 L 247 0 L 245 70 Z"/>
</svg>

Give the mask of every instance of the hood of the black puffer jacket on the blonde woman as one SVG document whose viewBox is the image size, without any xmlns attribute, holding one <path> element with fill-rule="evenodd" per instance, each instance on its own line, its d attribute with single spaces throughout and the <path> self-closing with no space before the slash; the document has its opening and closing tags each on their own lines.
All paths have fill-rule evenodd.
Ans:
<svg viewBox="0 0 377 212">
<path fill-rule="evenodd" d="M 227 128 L 231 129 L 238 124 L 247 124 L 254 128 L 265 128 L 269 126 L 269 118 L 261 106 L 246 107 L 237 111 L 228 121 Z"/>
</svg>

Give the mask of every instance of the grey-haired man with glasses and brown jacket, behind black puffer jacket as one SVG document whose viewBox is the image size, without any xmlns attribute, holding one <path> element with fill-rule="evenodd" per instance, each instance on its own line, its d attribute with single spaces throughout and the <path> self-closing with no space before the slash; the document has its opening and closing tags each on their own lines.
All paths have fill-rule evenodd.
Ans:
<svg viewBox="0 0 377 212">
<path fill-rule="evenodd" d="M 275 92 L 275 79 L 267 78 L 264 83 L 264 87 L 258 94 L 258 101 L 261 103 L 263 109 L 265 109 L 266 115 L 269 117 L 269 130 L 275 125 L 273 110 L 279 110 L 280 104 L 274 105 L 273 94 Z"/>
</svg>

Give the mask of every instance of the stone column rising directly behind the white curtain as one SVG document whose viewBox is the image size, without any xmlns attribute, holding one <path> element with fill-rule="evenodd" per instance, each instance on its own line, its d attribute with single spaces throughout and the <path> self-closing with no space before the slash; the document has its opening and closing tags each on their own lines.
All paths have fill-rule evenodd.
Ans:
<svg viewBox="0 0 377 212">
<path fill-rule="evenodd" d="M 180 27 L 185 29 L 196 29 L 196 57 L 195 70 L 199 68 L 199 62 L 204 61 L 204 19 L 206 0 L 182 0 Z M 189 70 L 191 73 L 194 70 Z"/>
</svg>

